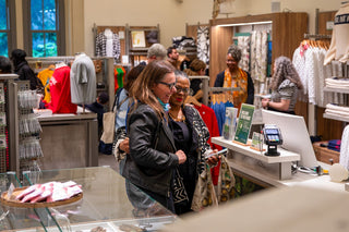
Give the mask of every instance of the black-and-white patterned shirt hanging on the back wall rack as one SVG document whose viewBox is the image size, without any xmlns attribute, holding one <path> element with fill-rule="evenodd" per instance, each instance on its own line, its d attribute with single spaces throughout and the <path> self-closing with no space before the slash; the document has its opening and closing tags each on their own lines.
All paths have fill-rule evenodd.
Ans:
<svg viewBox="0 0 349 232">
<path fill-rule="evenodd" d="M 107 53 L 111 53 L 117 63 L 121 53 L 119 35 L 112 34 L 112 46 L 107 46 L 107 36 L 101 32 L 96 37 L 96 57 L 107 57 Z"/>
</svg>

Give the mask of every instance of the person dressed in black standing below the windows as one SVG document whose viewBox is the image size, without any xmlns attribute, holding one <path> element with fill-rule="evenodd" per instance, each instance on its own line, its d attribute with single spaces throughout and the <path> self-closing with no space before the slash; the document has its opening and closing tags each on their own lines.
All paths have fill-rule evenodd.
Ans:
<svg viewBox="0 0 349 232">
<path fill-rule="evenodd" d="M 26 52 L 22 49 L 14 49 L 11 53 L 11 60 L 14 66 L 14 73 L 19 75 L 21 81 L 29 81 L 31 89 L 37 89 L 41 82 L 37 78 L 34 71 L 29 68 L 28 62 L 25 60 Z"/>
</svg>

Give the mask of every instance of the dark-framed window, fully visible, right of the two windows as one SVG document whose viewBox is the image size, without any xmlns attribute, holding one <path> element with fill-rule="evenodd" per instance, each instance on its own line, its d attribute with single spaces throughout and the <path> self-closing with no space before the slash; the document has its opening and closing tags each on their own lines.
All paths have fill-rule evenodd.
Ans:
<svg viewBox="0 0 349 232">
<path fill-rule="evenodd" d="M 57 57 L 64 53 L 63 0 L 24 0 L 28 19 L 25 49 L 32 57 Z"/>
</svg>

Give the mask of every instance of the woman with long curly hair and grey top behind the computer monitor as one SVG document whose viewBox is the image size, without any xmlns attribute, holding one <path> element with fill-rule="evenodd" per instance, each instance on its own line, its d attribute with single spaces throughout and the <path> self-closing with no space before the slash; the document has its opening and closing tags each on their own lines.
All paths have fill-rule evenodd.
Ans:
<svg viewBox="0 0 349 232">
<path fill-rule="evenodd" d="M 287 57 L 278 57 L 274 62 L 272 77 L 272 98 L 263 99 L 262 106 L 269 110 L 294 114 L 298 89 L 302 89 L 301 80 Z"/>
</svg>

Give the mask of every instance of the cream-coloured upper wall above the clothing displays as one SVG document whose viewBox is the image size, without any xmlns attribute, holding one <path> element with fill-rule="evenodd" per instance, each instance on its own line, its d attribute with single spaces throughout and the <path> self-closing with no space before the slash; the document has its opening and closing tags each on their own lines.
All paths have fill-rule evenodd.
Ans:
<svg viewBox="0 0 349 232">
<path fill-rule="evenodd" d="M 315 32 L 315 9 L 337 11 L 342 0 L 279 0 L 281 11 L 306 12 L 310 33 Z M 236 0 L 236 13 L 229 17 L 272 12 L 272 0 Z M 207 24 L 212 19 L 213 0 L 84 0 L 85 52 L 94 54 L 93 25 L 155 26 L 160 25 L 160 42 L 185 35 L 185 23 Z M 226 17 L 219 15 L 218 17 Z"/>
</svg>

